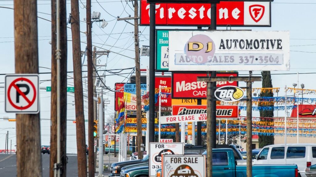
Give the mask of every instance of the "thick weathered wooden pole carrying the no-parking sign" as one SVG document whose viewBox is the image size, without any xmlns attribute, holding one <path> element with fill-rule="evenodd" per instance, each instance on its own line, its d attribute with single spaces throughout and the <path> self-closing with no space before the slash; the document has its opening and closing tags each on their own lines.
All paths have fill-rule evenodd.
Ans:
<svg viewBox="0 0 316 177">
<path fill-rule="evenodd" d="M 36 0 L 14 0 L 14 34 L 15 73 L 38 74 Z M 16 146 L 17 176 L 42 176 L 40 113 L 16 114 Z"/>
</svg>

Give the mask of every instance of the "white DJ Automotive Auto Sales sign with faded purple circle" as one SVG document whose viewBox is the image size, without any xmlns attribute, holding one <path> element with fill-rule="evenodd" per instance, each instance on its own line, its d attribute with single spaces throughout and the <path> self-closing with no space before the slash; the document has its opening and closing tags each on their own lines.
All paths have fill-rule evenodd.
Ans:
<svg viewBox="0 0 316 177">
<path fill-rule="evenodd" d="M 289 31 L 169 31 L 169 71 L 289 68 Z"/>
</svg>

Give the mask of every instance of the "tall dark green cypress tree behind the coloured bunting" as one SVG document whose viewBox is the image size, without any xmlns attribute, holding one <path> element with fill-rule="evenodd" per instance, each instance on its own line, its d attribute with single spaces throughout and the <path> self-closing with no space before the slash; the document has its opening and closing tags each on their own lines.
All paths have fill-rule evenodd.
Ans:
<svg viewBox="0 0 316 177">
<path fill-rule="evenodd" d="M 272 88 L 272 80 L 270 71 L 261 71 L 262 75 L 262 88 Z M 273 97 L 272 90 L 262 90 L 260 93 L 260 97 Z M 274 103 L 271 104 L 260 104 L 258 106 L 273 106 Z M 260 110 L 260 117 L 273 117 L 273 110 Z M 273 122 L 273 119 L 264 119 L 261 118 L 261 121 Z M 274 135 L 259 135 L 259 148 L 262 148 L 267 145 L 274 144 Z"/>
</svg>

